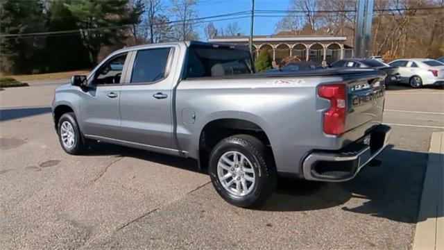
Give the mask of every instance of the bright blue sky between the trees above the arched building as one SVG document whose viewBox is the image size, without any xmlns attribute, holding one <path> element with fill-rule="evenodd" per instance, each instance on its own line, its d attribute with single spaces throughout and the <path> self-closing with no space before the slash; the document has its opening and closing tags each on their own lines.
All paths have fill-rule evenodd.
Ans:
<svg viewBox="0 0 444 250">
<path fill-rule="evenodd" d="M 288 10 L 290 0 L 255 0 L 255 10 Z M 200 0 L 197 3 L 198 16 L 207 17 L 221 15 L 230 12 L 251 10 L 251 0 Z M 255 35 L 271 35 L 275 33 L 275 26 L 282 17 L 256 17 L 254 22 Z M 230 22 L 237 22 L 242 35 L 250 33 L 250 17 L 242 19 L 230 19 L 214 22 L 216 28 L 227 26 Z M 206 23 L 198 28 L 200 40 L 205 40 L 203 28 Z"/>
</svg>

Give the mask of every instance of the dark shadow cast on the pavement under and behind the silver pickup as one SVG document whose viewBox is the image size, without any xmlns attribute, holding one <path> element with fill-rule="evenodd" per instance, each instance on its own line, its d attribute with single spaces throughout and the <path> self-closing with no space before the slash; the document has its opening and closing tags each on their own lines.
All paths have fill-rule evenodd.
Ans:
<svg viewBox="0 0 444 250">
<path fill-rule="evenodd" d="M 121 155 L 207 174 L 196 160 L 167 156 L 109 144 L 99 144 L 90 155 Z M 321 183 L 280 178 L 271 197 L 255 210 L 309 211 L 340 209 L 384 217 L 397 222 L 416 223 L 427 167 L 427 153 L 387 147 L 379 157 L 383 165 L 364 167 L 345 183 Z M 214 195 L 217 195 L 214 192 Z M 444 215 L 441 215 L 444 216 Z"/>
</svg>

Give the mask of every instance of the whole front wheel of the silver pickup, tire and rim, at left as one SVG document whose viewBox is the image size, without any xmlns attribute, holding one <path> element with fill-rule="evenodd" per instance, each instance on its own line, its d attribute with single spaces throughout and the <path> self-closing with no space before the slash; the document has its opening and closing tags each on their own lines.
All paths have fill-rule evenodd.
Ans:
<svg viewBox="0 0 444 250">
<path fill-rule="evenodd" d="M 58 139 L 62 149 L 69 154 L 83 153 L 87 147 L 80 135 L 80 129 L 74 113 L 65 113 L 58 120 Z"/>
</svg>

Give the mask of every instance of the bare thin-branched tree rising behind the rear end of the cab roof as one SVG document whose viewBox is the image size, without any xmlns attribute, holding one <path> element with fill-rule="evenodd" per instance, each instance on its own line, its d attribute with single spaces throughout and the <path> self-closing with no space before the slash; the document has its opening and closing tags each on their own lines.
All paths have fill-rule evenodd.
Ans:
<svg viewBox="0 0 444 250">
<path fill-rule="evenodd" d="M 173 38 L 178 41 L 196 40 L 196 23 L 190 19 L 198 16 L 196 0 L 171 0 L 171 17 L 178 22 L 173 25 Z"/>
</svg>

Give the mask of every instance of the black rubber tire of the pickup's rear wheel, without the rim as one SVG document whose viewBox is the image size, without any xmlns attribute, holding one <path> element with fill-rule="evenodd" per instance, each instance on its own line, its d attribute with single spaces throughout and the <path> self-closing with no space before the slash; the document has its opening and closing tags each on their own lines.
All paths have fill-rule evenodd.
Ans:
<svg viewBox="0 0 444 250">
<path fill-rule="evenodd" d="M 225 190 L 218 177 L 219 159 L 230 151 L 243 154 L 253 165 L 255 183 L 251 184 L 252 190 L 244 196 L 237 196 Z M 213 186 L 225 201 L 234 206 L 243 208 L 259 206 L 276 188 L 277 173 L 272 159 L 271 152 L 267 151 L 266 146 L 251 135 L 233 135 L 225 138 L 216 144 L 210 154 L 209 172 Z"/>
</svg>

